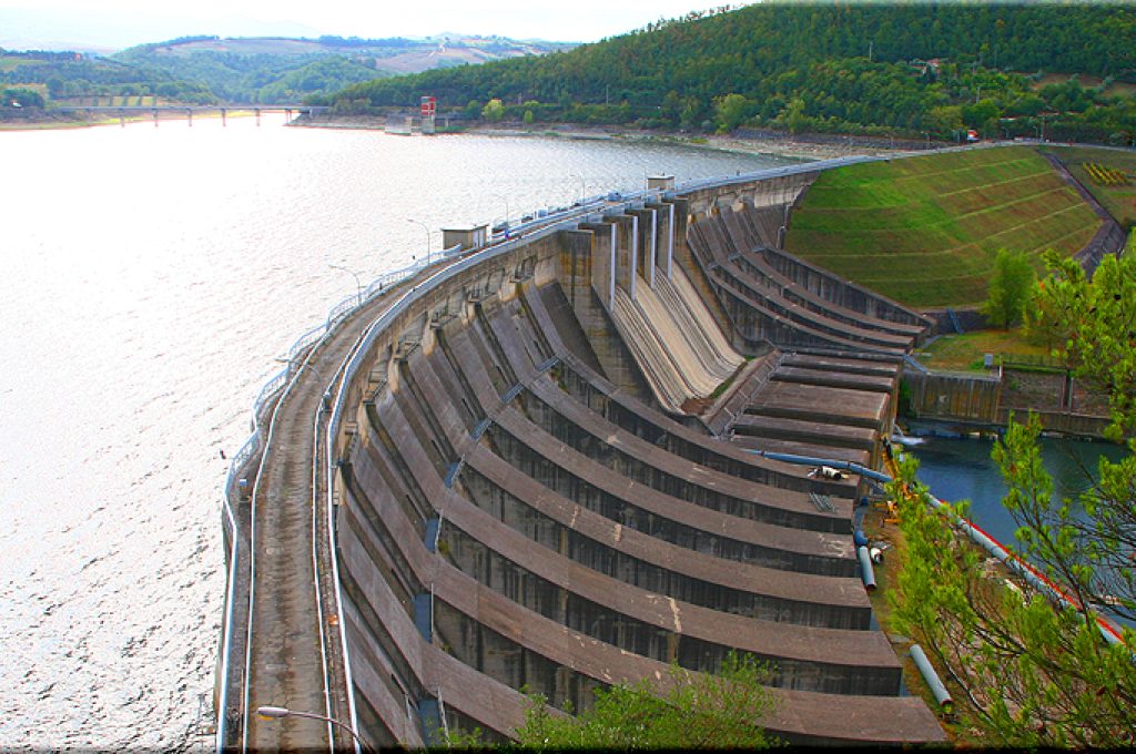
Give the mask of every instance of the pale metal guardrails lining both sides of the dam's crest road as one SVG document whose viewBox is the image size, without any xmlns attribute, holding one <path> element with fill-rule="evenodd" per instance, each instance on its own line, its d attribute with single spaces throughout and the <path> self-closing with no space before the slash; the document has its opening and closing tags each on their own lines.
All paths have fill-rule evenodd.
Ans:
<svg viewBox="0 0 1136 754">
<path fill-rule="evenodd" d="M 984 144 L 983 146 L 989 146 L 989 144 Z M 963 150 L 963 149 L 975 149 L 975 146 L 947 148 L 947 149 L 944 149 L 944 150 L 941 150 L 941 151 L 959 151 L 959 150 Z M 333 405 L 333 409 L 332 409 L 332 417 L 331 417 L 331 420 L 328 421 L 328 425 L 327 425 L 327 435 L 326 435 L 327 443 L 326 443 L 326 449 L 327 449 L 327 461 L 328 461 L 328 463 L 327 463 L 327 468 L 328 468 L 328 485 L 327 485 L 327 495 L 328 495 L 328 500 L 327 500 L 328 536 L 329 537 L 334 537 L 334 533 L 335 533 L 334 521 L 332 520 L 332 516 L 333 516 L 333 511 L 334 511 L 334 504 L 333 504 L 333 497 L 334 497 L 334 484 L 333 484 L 333 481 L 334 481 L 334 472 L 333 472 L 333 469 L 335 468 L 335 463 L 334 463 L 334 459 L 332 458 L 332 454 L 333 454 L 333 449 L 334 449 L 334 444 L 335 444 L 334 443 L 334 438 L 339 434 L 340 425 L 342 422 L 343 400 L 344 400 L 344 395 L 346 393 L 346 386 L 351 383 L 351 380 L 354 377 L 356 372 L 359 370 L 359 367 L 360 367 L 360 365 L 362 362 L 364 357 L 370 350 L 370 347 L 374 345 L 374 342 L 378 337 L 378 335 L 396 317 L 399 317 L 403 311 L 406 311 L 406 309 L 415 300 L 417 300 L 417 299 L 419 299 L 419 298 L 428 294 L 429 292 L 434 291 L 435 288 L 437 288 L 440 285 L 442 285 L 446 280 L 450 280 L 451 278 L 453 278 L 454 276 L 461 275 L 462 273 L 465 273 L 470 267 L 474 267 L 476 265 L 481 265 L 481 263 L 483 263 L 485 261 L 488 261 L 491 259 L 495 259 L 498 257 L 504 255 L 504 254 L 513 251 L 515 249 L 517 249 L 517 248 L 519 248 L 521 245 L 527 245 L 528 243 L 531 243 L 531 242 L 533 242 L 533 241 L 535 241 L 537 238 L 545 237 L 548 235 L 551 235 L 551 234 L 557 233 L 557 232 L 562 231 L 562 229 L 571 229 L 578 223 L 586 221 L 588 219 L 593 219 L 593 217 L 596 216 L 596 215 L 600 215 L 601 218 L 602 218 L 602 215 L 609 215 L 609 213 L 617 213 L 617 212 L 620 212 L 620 211 L 627 211 L 629 209 L 636 208 L 636 206 L 641 206 L 643 202 L 646 202 L 646 201 L 659 201 L 659 200 L 662 200 L 662 199 L 673 199 L 676 195 L 680 195 L 680 194 L 684 194 L 684 193 L 691 193 L 693 191 L 703 191 L 703 190 L 716 188 L 716 187 L 728 187 L 728 186 L 737 185 L 740 183 L 750 183 L 750 182 L 753 182 L 753 181 L 768 179 L 768 178 L 774 178 L 774 177 L 778 177 L 778 176 L 783 176 L 783 175 L 797 175 L 797 174 L 802 174 L 802 173 L 815 173 L 817 170 L 828 170 L 828 169 L 833 169 L 833 168 L 837 168 L 837 167 L 843 167 L 843 166 L 846 166 L 846 165 L 854 165 L 854 164 L 858 164 L 858 162 L 874 162 L 874 161 L 891 160 L 891 159 L 902 159 L 902 158 L 907 158 L 907 157 L 916 157 L 916 156 L 918 156 L 920 153 L 921 152 L 901 152 L 901 153 L 888 154 L 888 156 L 885 156 L 885 157 L 858 156 L 858 157 L 845 157 L 845 158 L 838 158 L 838 159 L 832 159 L 832 160 L 817 160 L 817 161 L 813 161 L 813 162 L 803 162 L 801 165 L 794 165 L 794 166 L 787 166 L 787 167 L 765 168 L 765 169 L 761 169 L 761 170 L 755 170 L 755 171 L 745 173 L 745 174 L 738 174 L 738 175 L 735 175 L 735 176 L 728 176 L 728 177 L 724 177 L 724 178 L 710 178 L 710 179 L 687 181 L 687 182 L 684 182 L 682 184 L 678 184 L 675 188 L 666 190 L 666 191 L 659 190 L 659 188 L 649 188 L 649 190 L 636 191 L 636 192 L 616 193 L 615 195 L 608 194 L 608 196 L 611 196 L 610 199 L 608 196 L 598 195 L 598 196 L 592 196 L 592 198 L 587 198 L 587 199 L 580 200 L 580 201 L 576 202 L 573 207 L 560 208 L 560 209 L 557 209 L 557 210 L 552 210 L 552 211 L 548 212 L 544 217 L 536 217 L 536 218 L 533 218 L 532 220 L 521 221 L 521 223 L 519 223 L 519 224 L 517 224 L 515 226 L 509 227 L 508 232 L 501 232 L 501 233 L 492 234 L 492 236 L 491 236 L 491 245 L 488 245 L 487 248 L 485 248 L 485 249 L 483 249 L 481 251 L 477 251 L 476 253 L 473 253 L 470 255 L 467 255 L 467 257 L 460 259 L 459 261 L 457 261 L 453 265 L 450 265 L 450 266 L 448 266 L 448 267 L 438 270 L 436 274 L 434 274 L 431 277 L 428 277 L 421 284 L 419 284 L 419 285 L 415 286 L 414 288 L 411 288 L 410 291 L 403 293 L 391 307 L 389 307 L 386 310 L 384 310 L 384 312 L 377 319 L 375 319 L 373 322 L 370 322 L 370 325 L 367 326 L 366 332 L 360 337 L 360 340 L 357 342 L 356 347 L 353 349 L 352 353 L 350 354 L 350 361 L 346 362 L 345 369 L 343 370 L 343 376 L 342 376 L 342 378 L 340 380 L 339 393 L 335 396 L 335 402 L 334 402 L 334 405 Z M 508 221 L 508 218 L 507 218 L 507 221 Z M 461 251 L 460 246 L 454 246 L 454 248 L 451 248 L 451 249 L 443 249 L 441 252 L 438 252 L 438 254 L 436 255 L 436 258 L 433 258 L 433 259 L 436 259 L 436 260 L 441 261 L 442 259 L 451 258 L 454 254 L 460 253 L 460 251 Z M 244 443 L 244 445 L 242 445 L 241 450 L 237 452 L 236 456 L 234 456 L 233 462 L 229 466 L 229 472 L 228 472 L 228 477 L 226 479 L 225 492 L 223 494 L 223 501 L 222 501 L 223 502 L 224 513 L 225 513 L 225 519 L 231 522 L 231 527 L 233 529 L 233 536 L 231 537 L 229 551 L 227 553 L 227 558 L 229 560 L 229 584 L 228 584 L 228 588 L 226 590 L 225 613 L 226 613 L 226 615 L 228 618 L 226 619 L 225 636 L 224 636 L 223 647 L 222 647 L 222 668 L 223 668 L 222 672 L 223 672 L 223 678 L 222 678 L 222 690 L 220 690 L 219 702 L 218 702 L 218 705 L 217 705 L 218 706 L 218 709 L 217 709 L 218 724 L 217 724 L 217 745 L 216 745 L 216 748 L 217 748 L 218 754 L 224 749 L 225 743 L 226 743 L 226 736 L 228 735 L 228 730 L 227 730 L 227 726 L 226 726 L 226 717 L 227 717 L 226 715 L 226 711 L 228 709 L 228 706 L 227 706 L 227 704 L 228 704 L 228 701 L 227 701 L 227 690 L 228 690 L 228 688 L 227 687 L 228 687 L 229 679 L 228 679 L 227 675 L 225 675 L 225 673 L 231 672 L 229 671 L 229 668 L 231 668 L 231 664 L 229 664 L 229 651 L 231 651 L 231 646 L 232 646 L 232 619 L 231 619 L 231 617 L 233 614 L 233 602 L 236 598 L 235 595 L 234 595 L 234 593 L 233 593 L 234 592 L 233 583 L 234 583 L 234 578 L 235 578 L 234 575 L 236 572 L 236 566 L 235 566 L 235 563 L 236 563 L 236 561 L 240 558 L 240 547 L 239 547 L 239 545 L 240 545 L 240 537 L 236 536 L 236 534 L 237 534 L 236 533 L 236 525 L 235 525 L 235 520 L 236 519 L 235 519 L 235 517 L 233 514 L 233 508 L 232 508 L 232 504 L 231 504 L 229 493 L 231 493 L 231 489 L 232 489 L 233 480 L 236 478 L 236 475 L 240 474 L 241 470 L 243 470 L 244 466 L 248 464 L 248 462 L 261 450 L 261 429 L 260 429 L 261 428 L 261 424 L 262 424 L 262 421 L 261 421 L 261 413 L 265 410 L 265 408 L 272 402 L 272 400 L 274 397 L 276 397 L 276 395 L 284 388 L 284 386 L 286 384 L 289 384 L 291 371 L 292 371 L 292 366 L 295 362 L 296 358 L 301 353 L 303 353 L 303 351 L 306 349 L 310 347 L 312 344 L 315 344 L 321 337 L 324 337 L 327 334 L 327 332 L 332 327 L 334 327 L 349 312 L 351 312 L 354 309 L 357 309 L 358 307 L 367 303 L 368 301 L 370 301 L 371 299 L 374 299 L 376 295 L 379 295 L 386 288 L 389 288 L 391 285 L 393 285 L 393 284 L 395 284 L 395 283 L 398 283 L 400 280 L 403 280 L 403 279 L 406 279 L 406 278 L 415 275 L 416 273 L 423 270 L 424 268 L 428 267 L 429 265 L 427 263 L 427 261 L 431 261 L 431 259 L 432 259 L 431 257 L 427 257 L 426 260 L 419 260 L 416 263 L 410 265 L 409 267 L 404 267 L 404 268 L 399 269 L 399 270 L 393 270 L 391 273 L 385 273 L 385 274 L 378 276 L 377 278 L 375 278 L 367 286 L 366 290 L 364 290 L 364 291 L 357 291 L 354 295 L 352 295 L 352 296 L 350 296 L 348 299 L 344 299 L 340 303 L 335 304 L 331 309 L 331 311 L 328 312 L 327 318 L 326 318 L 326 320 L 324 321 L 323 325 L 319 325 L 319 326 L 317 326 L 317 327 L 308 330 L 307 333 L 304 333 L 303 335 L 301 335 L 299 338 L 296 338 L 295 343 L 293 343 L 293 345 L 289 349 L 289 365 L 287 365 L 287 368 L 281 370 L 276 375 L 273 375 L 268 379 L 268 382 L 265 384 L 265 386 L 261 387 L 260 392 L 257 395 L 257 399 L 256 399 L 256 401 L 253 403 L 252 435 Z M 343 369 L 343 366 L 341 366 L 341 369 Z M 334 543 L 334 541 L 331 543 L 331 556 L 332 556 L 333 568 L 334 568 L 334 583 L 335 583 L 335 590 L 336 590 L 336 602 L 340 603 L 341 602 L 341 587 L 340 587 L 340 580 L 339 580 L 339 562 L 337 562 L 337 559 L 336 559 L 336 555 L 335 555 L 335 543 Z M 253 572 L 253 568 L 254 568 L 254 561 L 252 559 L 251 553 L 249 555 L 249 559 L 250 559 L 249 569 L 250 569 L 250 573 L 252 573 Z M 344 648 L 344 665 L 345 665 L 345 669 L 346 669 L 348 679 L 350 679 L 350 663 L 348 662 L 348 657 L 346 657 L 345 621 L 340 621 L 340 631 L 341 631 L 341 640 L 343 643 L 343 648 Z M 245 682 L 245 685 L 248 684 L 248 679 L 247 678 L 245 678 L 244 682 Z M 350 684 L 349 684 L 349 686 L 350 686 Z M 353 699 L 352 689 L 350 687 L 348 688 L 348 694 L 349 694 L 349 698 Z M 353 702 L 350 703 L 350 706 L 351 706 L 351 710 L 350 710 L 351 722 L 352 722 L 352 726 L 354 726 L 356 724 L 356 710 L 354 710 Z"/>
</svg>

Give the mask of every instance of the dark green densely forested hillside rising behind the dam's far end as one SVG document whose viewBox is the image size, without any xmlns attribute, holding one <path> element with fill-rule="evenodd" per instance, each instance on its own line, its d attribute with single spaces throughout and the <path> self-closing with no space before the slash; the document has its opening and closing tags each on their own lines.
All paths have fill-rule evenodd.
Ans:
<svg viewBox="0 0 1136 754">
<path fill-rule="evenodd" d="M 1045 74 L 1064 74 L 1049 85 Z M 1069 75 L 1083 78 L 1069 79 Z M 320 100 L 342 111 L 431 94 L 479 115 L 645 127 L 1124 140 L 1136 109 L 1130 5 L 762 3 L 558 55 L 427 72 Z M 476 107 L 475 107 L 476 106 Z"/>
</svg>

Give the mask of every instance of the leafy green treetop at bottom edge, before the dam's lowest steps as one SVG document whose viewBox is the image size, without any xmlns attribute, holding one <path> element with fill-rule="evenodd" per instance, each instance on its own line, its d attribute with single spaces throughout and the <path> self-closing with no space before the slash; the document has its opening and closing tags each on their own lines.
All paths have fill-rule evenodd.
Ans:
<svg viewBox="0 0 1136 754">
<path fill-rule="evenodd" d="M 768 748 L 777 743 L 760 726 L 774 709 L 762 686 L 768 675 L 751 655 L 735 653 L 717 675 L 674 664 L 663 688 L 642 679 L 600 689 L 594 706 L 577 717 L 554 717 L 537 695 L 517 738 L 538 749 Z"/>
</svg>

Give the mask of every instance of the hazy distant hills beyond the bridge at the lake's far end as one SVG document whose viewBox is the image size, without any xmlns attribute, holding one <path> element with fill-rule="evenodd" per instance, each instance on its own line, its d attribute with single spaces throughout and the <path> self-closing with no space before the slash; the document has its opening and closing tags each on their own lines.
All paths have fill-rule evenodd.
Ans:
<svg viewBox="0 0 1136 754">
<path fill-rule="evenodd" d="M 202 35 L 141 44 L 109 57 L 0 49 L 0 90 L 14 92 L 0 100 L 0 116 L 11 99 L 22 107 L 107 104 L 123 97 L 195 104 L 300 102 L 384 76 L 570 47 L 457 35 L 427 40 Z"/>
</svg>

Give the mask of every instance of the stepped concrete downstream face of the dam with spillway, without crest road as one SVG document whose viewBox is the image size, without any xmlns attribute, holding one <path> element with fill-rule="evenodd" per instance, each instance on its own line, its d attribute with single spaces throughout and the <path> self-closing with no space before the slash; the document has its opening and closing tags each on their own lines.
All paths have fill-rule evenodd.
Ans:
<svg viewBox="0 0 1136 754">
<path fill-rule="evenodd" d="M 784 212 L 805 183 L 724 200 Z M 843 350 L 766 334 L 735 351 L 687 243 L 720 204 L 657 195 L 492 248 L 367 330 L 329 439 L 369 743 L 508 740 L 521 688 L 586 709 L 598 687 L 712 672 L 732 651 L 771 664 L 763 722 L 790 740 L 943 740 L 872 628 L 862 485 L 749 452 L 875 462 L 910 338 L 829 322 Z M 659 387 L 679 378 L 682 405 Z"/>
</svg>

